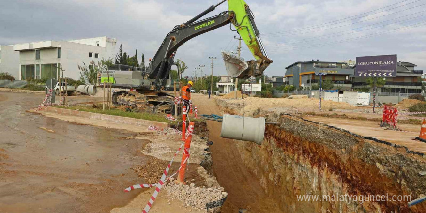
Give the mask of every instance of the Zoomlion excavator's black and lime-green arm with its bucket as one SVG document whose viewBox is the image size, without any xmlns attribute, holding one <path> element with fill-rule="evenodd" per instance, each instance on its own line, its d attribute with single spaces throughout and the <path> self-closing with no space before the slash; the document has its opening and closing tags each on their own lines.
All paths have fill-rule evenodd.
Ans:
<svg viewBox="0 0 426 213">
<path fill-rule="evenodd" d="M 225 1 L 228 1 L 228 11 L 197 21 Z M 227 24 L 234 25 L 235 30 L 233 31 L 237 31 L 241 35 L 255 58 L 255 60 L 244 61 L 242 58 L 222 52 L 228 74 L 238 78 L 262 75 L 272 60 L 268 58 L 260 40 L 260 34 L 250 8 L 243 0 L 223 0 L 186 23 L 175 26 L 167 34 L 144 73 L 146 78 L 154 79 L 152 89 L 160 89 L 166 84 L 171 66 L 176 65 L 174 62 L 176 51 L 181 45 L 198 35 Z"/>
</svg>

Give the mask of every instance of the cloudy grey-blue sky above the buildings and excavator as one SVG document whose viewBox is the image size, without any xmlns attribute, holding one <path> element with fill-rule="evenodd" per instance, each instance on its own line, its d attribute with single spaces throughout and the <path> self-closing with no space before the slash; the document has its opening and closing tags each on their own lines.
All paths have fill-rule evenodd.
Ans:
<svg viewBox="0 0 426 213">
<path fill-rule="evenodd" d="M 152 58 L 164 37 L 220 0 L 0 0 L 0 44 L 107 36 L 128 55 Z M 397 54 L 398 61 L 426 71 L 426 0 L 246 0 L 270 59 L 267 76 L 284 76 L 296 61 L 345 61 L 357 56 Z M 380 9 L 385 7 L 383 9 Z M 217 7 L 206 15 L 226 11 Z M 193 76 L 199 65 L 226 75 L 221 50 L 236 52 L 229 26 L 181 46 L 175 59 Z M 242 57 L 251 60 L 247 46 Z M 139 58 L 140 60 L 140 58 Z M 200 71 L 198 76 L 201 76 Z"/>
</svg>

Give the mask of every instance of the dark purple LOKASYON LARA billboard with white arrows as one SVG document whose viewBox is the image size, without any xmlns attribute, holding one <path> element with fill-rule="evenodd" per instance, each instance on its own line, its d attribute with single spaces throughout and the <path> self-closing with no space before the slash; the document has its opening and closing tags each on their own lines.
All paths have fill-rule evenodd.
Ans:
<svg viewBox="0 0 426 213">
<path fill-rule="evenodd" d="M 356 77 L 396 77 L 397 55 L 356 57 Z"/>
</svg>

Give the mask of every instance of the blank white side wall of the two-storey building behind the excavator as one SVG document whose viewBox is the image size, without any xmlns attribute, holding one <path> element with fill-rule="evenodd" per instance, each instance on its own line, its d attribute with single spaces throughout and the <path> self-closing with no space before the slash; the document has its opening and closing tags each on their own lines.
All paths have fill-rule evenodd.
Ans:
<svg viewBox="0 0 426 213">
<path fill-rule="evenodd" d="M 115 44 L 107 42 L 106 47 L 101 47 L 61 41 L 61 66 L 65 70 L 64 76 L 78 79 L 80 78 L 80 71 L 77 65 L 83 66 L 83 62 L 89 65 L 90 61 L 94 61 L 97 64 L 102 58 L 114 59 Z M 93 53 L 92 58 L 89 57 L 89 52 Z M 95 53 L 99 53 L 98 58 L 94 58 Z"/>
</svg>

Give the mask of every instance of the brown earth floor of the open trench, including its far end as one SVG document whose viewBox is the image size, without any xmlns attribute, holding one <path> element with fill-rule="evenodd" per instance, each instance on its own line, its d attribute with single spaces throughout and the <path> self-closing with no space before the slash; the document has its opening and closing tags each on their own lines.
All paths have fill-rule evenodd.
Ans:
<svg viewBox="0 0 426 213">
<path fill-rule="evenodd" d="M 207 95 L 193 94 L 199 114 L 217 114 L 222 112 L 213 98 Z M 220 137 L 222 123 L 207 121 L 209 140 L 213 159 L 213 173 L 220 186 L 228 192 L 228 198 L 221 209 L 222 213 L 237 213 L 247 209 L 250 213 L 279 213 L 274 200 L 270 199 L 260 186 L 260 180 L 243 165 L 240 153 L 233 140 Z M 247 142 L 250 143 L 250 142 Z"/>
</svg>

